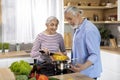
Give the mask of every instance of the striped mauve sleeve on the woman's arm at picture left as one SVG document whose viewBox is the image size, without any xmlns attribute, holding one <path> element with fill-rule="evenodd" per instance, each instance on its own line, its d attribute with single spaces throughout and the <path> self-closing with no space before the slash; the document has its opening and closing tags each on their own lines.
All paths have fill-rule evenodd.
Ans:
<svg viewBox="0 0 120 80">
<path fill-rule="evenodd" d="M 40 41 L 40 37 L 38 35 L 33 43 L 33 47 L 32 47 L 31 53 L 30 53 L 31 57 L 35 58 L 40 55 L 40 52 L 39 52 L 40 46 L 41 46 L 40 44 L 41 44 L 41 41 Z"/>
</svg>

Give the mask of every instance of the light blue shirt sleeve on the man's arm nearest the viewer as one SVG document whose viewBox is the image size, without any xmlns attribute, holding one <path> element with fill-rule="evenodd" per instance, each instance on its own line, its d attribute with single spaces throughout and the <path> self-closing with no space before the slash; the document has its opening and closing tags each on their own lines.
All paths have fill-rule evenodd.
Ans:
<svg viewBox="0 0 120 80">
<path fill-rule="evenodd" d="M 86 34 L 86 45 L 89 54 L 88 60 L 94 64 L 100 54 L 100 35 L 95 31 L 89 31 Z"/>
</svg>

